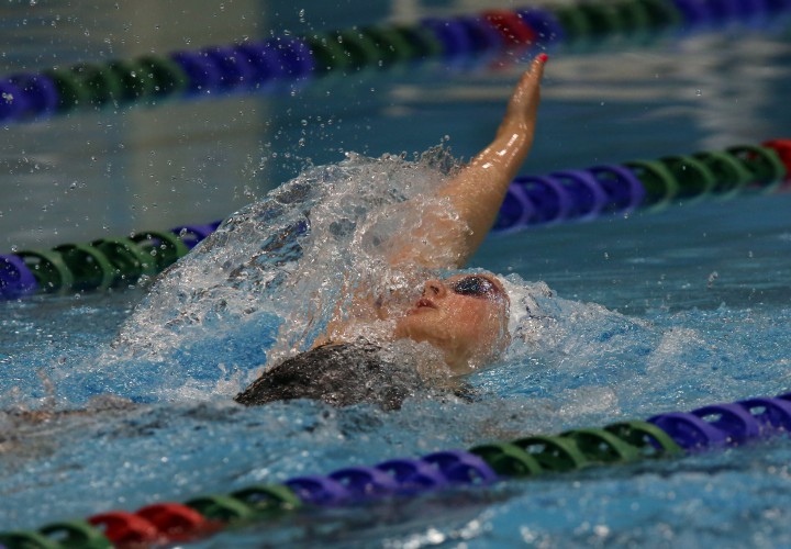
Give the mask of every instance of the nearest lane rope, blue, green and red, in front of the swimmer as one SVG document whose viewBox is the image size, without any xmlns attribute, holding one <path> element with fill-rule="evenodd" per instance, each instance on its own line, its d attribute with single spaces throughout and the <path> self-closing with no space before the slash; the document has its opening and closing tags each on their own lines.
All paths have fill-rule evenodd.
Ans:
<svg viewBox="0 0 791 549">
<path fill-rule="evenodd" d="M 170 545 L 205 539 L 226 527 L 272 519 L 303 507 L 334 507 L 410 497 L 458 488 L 486 489 L 510 479 L 559 474 L 590 467 L 743 446 L 791 432 L 791 393 L 670 412 L 647 421 L 578 428 L 348 467 L 281 484 L 256 484 L 231 494 L 205 494 L 186 503 L 163 502 L 130 513 L 110 511 L 37 530 L 0 533 L 7 549 Z"/>
</svg>

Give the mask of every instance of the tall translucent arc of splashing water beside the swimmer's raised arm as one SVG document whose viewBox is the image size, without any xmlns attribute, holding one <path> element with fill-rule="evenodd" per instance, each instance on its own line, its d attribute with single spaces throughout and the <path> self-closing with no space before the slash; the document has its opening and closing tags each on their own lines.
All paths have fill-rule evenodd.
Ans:
<svg viewBox="0 0 791 549">
<path fill-rule="evenodd" d="M 149 365 L 159 383 L 171 371 L 167 391 L 183 384 L 179 379 L 218 381 L 220 368 L 231 391 L 233 380 L 249 381 L 266 362 L 310 347 L 350 306 L 355 288 L 411 302 L 425 271 L 394 268 L 383 256 L 404 226 L 455 215 L 431 198 L 455 166 L 437 147 L 414 160 L 349 154 L 309 168 L 233 214 L 164 272 L 99 361 Z M 392 333 L 386 325 L 366 329 Z"/>
</svg>

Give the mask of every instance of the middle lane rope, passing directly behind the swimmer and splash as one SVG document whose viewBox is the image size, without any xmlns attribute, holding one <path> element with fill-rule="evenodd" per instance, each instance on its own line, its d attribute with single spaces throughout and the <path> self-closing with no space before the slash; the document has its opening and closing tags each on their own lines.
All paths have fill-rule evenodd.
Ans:
<svg viewBox="0 0 791 549">
<path fill-rule="evenodd" d="M 494 233 L 588 221 L 601 215 L 667 208 L 705 197 L 773 192 L 788 186 L 791 139 L 761 146 L 632 160 L 622 165 L 517 177 L 509 187 Z M 102 291 L 134 284 L 183 257 L 219 222 L 171 231 L 147 231 L 129 238 L 64 244 L 47 250 L 0 255 L 0 299 L 36 293 Z"/>
</svg>

